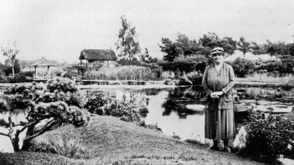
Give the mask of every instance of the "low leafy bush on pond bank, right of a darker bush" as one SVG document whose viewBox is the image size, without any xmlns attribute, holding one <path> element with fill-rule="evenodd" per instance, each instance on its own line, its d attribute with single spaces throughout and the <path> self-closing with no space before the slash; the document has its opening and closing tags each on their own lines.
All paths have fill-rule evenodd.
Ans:
<svg viewBox="0 0 294 165">
<path fill-rule="evenodd" d="M 106 115 L 115 117 L 127 116 L 131 121 L 141 120 L 138 106 L 130 102 L 113 100 L 111 103 L 105 105 L 104 110 Z"/>
</svg>

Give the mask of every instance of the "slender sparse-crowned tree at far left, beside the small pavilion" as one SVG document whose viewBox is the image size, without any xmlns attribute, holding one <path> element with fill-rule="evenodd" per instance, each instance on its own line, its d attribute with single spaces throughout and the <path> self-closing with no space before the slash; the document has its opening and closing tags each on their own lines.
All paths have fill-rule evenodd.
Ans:
<svg viewBox="0 0 294 165">
<path fill-rule="evenodd" d="M 12 76 L 14 77 L 14 61 L 16 58 L 16 55 L 18 54 L 19 50 L 16 47 L 17 41 L 14 41 L 14 43 L 11 45 L 9 42 L 6 47 L 1 47 L 1 52 L 3 52 L 4 56 L 7 56 L 11 60 L 12 65 Z"/>
</svg>

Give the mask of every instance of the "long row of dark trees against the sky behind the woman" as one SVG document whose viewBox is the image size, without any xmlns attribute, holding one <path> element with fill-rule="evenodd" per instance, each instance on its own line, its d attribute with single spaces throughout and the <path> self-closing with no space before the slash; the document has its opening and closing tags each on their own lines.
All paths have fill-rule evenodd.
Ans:
<svg viewBox="0 0 294 165">
<path fill-rule="evenodd" d="M 266 40 L 266 44 L 257 44 L 255 41 L 246 41 L 243 36 L 239 41 L 233 40 L 231 37 L 220 38 L 215 33 L 204 34 L 198 40 L 190 39 L 185 34 L 178 33 L 176 41 L 169 38 L 162 38 L 161 44 L 158 44 L 161 52 L 165 55 L 163 60 L 174 61 L 180 55 L 204 55 L 207 57 L 214 47 L 223 47 L 224 51 L 233 54 L 235 50 L 244 53 L 252 52 L 253 54 L 270 54 L 273 55 L 291 55 L 294 56 L 294 43 L 286 44 L 283 41 L 271 42 Z"/>
</svg>

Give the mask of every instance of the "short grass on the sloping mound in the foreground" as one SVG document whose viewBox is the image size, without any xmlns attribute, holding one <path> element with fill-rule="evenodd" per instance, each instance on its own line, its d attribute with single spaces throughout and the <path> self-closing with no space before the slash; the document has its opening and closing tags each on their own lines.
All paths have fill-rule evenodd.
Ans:
<svg viewBox="0 0 294 165">
<path fill-rule="evenodd" d="M 79 139 L 87 155 L 73 159 L 37 152 L 3 153 L 0 164 L 260 164 L 111 116 L 95 115 L 87 127 L 67 125 L 42 136 Z"/>
</svg>

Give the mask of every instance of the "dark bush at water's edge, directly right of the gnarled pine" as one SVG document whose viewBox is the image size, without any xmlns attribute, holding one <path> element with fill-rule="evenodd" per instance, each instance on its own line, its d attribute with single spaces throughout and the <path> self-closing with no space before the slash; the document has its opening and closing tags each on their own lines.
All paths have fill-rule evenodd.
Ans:
<svg viewBox="0 0 294 165">
<path fill-rule="evenodd" d="M 96 113 L 98 115 L 103 114 L 103 108 L 107 104 L 103 93 L 88 93 L 86 95 L 86 104 L 84 108 L 88 109 L 90 113 Z"/>
</svg>

